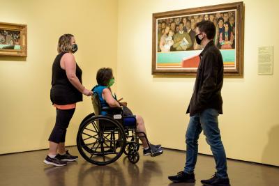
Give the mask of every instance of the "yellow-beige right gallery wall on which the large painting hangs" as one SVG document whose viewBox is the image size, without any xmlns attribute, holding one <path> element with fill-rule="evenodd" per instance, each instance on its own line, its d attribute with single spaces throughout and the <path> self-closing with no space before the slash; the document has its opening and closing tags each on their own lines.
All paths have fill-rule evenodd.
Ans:
<svg viewBox="0 0 279 186">
<path fill-rule="evenodd" d="M 151 75 L 152 13 L 235 1 L 119 0 L 118 92 L 144 116 L 149 138 L 167 148 L 186 149 L 186 107 L 194 78 Z M 227 157 L 279 165 L 278 1 L 246 0 L 244 77 L 225 79 L 220 130 Z M 274 74 L 257 75 L 257 47 L 273 46 Z M 211 154 L 204 137 L 199 153 Z"/>
</svg>

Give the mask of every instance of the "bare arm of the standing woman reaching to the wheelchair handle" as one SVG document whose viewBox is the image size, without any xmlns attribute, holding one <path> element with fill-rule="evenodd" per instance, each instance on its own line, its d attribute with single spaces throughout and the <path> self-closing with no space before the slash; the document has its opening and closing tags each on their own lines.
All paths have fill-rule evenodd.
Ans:
<svg viewBox="0 0 279 186">
<path fill-rule="evenodd" d="M 75 88 L 77 88 L 78 91 L 80 91 L 84 95 L 92 95 L 92 92 L 84 88 L 80 80 L 75 75 L 76 63 L 75 63 L 75 56 L 73 54 L 70 53 L 64 54 L 61 59 L 60 65 L 62 69 L 66 70 L 66 75 L 70 83 L 73 84 L 73 86 L 75 86 Z"/>
</svg>

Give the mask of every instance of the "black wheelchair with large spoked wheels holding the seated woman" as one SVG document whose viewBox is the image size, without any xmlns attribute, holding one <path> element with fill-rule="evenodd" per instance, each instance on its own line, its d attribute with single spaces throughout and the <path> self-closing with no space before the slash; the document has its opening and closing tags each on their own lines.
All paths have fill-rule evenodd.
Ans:
<svg viewBox="0 0 279 186">
<path fill-rule="evenodd" d="M 93 93 L 91 100 L 94 112 L 82 120 L 77 132 L 80 155 L 92 164 L 106 165 L 124 153 L 131 163 L 136 164 L 140 160 L 137 134 L 141 134 L 147 144 L 149 141 L 144 132 L 136 132 L 135 116 L 124 116 L 122 108 L 100 107 L 97 93 Z M 106 111 L 107 116 L 100 115 L 102 111 Z M 151 151 L 151 156 L 156 155 L 160 154 Z"/>
</svg>

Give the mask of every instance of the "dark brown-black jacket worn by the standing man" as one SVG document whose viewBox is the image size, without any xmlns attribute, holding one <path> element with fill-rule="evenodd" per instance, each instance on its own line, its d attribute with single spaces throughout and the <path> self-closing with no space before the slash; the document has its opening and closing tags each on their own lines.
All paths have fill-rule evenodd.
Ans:
<svg viewBox="0 0 279 186">
<path fill-rule="evenodd" d="M 204 109 L 216 109 L 223 114 L 223 59 L 213 40 L 207 43 L 199 57 L 201 61 L 197 68 L 195 88 L 186 114 L 194 116 Z"/>
</svg>

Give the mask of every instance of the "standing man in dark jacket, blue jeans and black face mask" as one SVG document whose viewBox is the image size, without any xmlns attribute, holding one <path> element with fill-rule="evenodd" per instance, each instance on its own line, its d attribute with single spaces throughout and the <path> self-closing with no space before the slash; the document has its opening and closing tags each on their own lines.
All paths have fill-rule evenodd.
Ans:
<svg viewBox="0 0 279 186">
<path fill-rule="evenodd" d="M 190 100 L 187 114 L 190 121 L 186 132 L 186 165 L 176 176 L 169 176 L 174 183 L 195 183 L 195 164 L 197 162 L 199 134 L 204 130 L 206 141 L 211 147 L 216 162 L 216 173 L 209 180 L 202 180 L 204 185 L 229 185 L 227 176 L 227 160 L 220 137 L 218 115 L 223 114 L 221 89 L 223 86 L 223 59 L 213 38 L 216 27 L 210 21 L 196 24 L 196 41 L 202 45 L 203 51 L 197 69 L 195 89 Z"/>
</svg>

